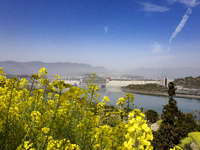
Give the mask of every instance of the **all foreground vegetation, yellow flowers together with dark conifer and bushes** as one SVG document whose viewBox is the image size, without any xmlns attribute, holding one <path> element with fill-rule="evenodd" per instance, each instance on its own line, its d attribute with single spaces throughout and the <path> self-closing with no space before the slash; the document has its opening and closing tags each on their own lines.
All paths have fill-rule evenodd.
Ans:
<svg viewBox="0 0 200 150">
<path fill-rule="evenodd" d="M 50 83 L 45 68 L 31 75 L 30 87 L 26 79 L 7 79 L 3 74 L 0 68 L 2 150 L 153 150 L 153 146 L 175 150 L 180 149 L 175 146 L 180 139 L 199 131 L 192 114 L 178 110 L 173 83 L 167 90 L 169 104 L 163 107 L 161 126 L 152 134 L 142 111 L 130 109 L 134 105 L 131 93 L 120 97 L 115 107 L 109 106 L 107 96 L 99 102 L 98 87 L 93 84 L 95 73 L 87 89 L 71 87 L 58 75 Z M 152 122 L 157 117 L 154 110 L 147 112 Z M 199 134 L 188 136 L 199 143 Z"/>
</svg>

